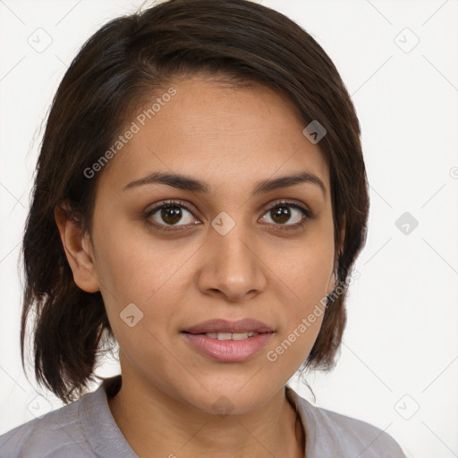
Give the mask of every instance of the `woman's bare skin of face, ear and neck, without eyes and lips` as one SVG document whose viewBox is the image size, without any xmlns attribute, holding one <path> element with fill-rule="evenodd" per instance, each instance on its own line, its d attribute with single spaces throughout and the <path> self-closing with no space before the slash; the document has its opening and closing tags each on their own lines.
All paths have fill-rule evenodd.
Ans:
<svg viewBox="0 0 458 458">
<path fill-rule="evenodd" d="M 326 160 L 302 134 L 292 102 L 270 89 L 229 89 L 203 76 L 171 86 L 176 96 L 99 173 L 91 234 L 55 213 L 74 280 L 101 292 L 121 349 L 123 386 L 110 410 L 140 457 L 303 457 L 306 438 L 285 384 L 310 353 L 322 316 L 275 362 L 267 352 L 335 286 Z M 123 190 L 157 171 L 198 178 L 210 193 L 165 184 Z M 326 193 L 300 183 L 250 197 L 256 182 L 298 171 L 317 175 Z M 192 211 L 182 209 L 176 231 L 159 229 L 167 226 L 160 210 L 149 217 L 157 226 L 141 219 L 165 199 Z M 280 199 L 313 218 L 282 231 L 306 216 L 287 206 L 290 220 L 281 225 L 268 210 Z M 225 235 L 211 225 L 222 211 L 235 223 Z M 120 318 L 130 303 L 143 313 L 134 327 Z M 243 362 L 210 360 L 180 333 L 209 318 L 246 317 L 276 334 Z M 212 408 L 221 395 L 233 405 L 224 418 Z"/>
</svg>

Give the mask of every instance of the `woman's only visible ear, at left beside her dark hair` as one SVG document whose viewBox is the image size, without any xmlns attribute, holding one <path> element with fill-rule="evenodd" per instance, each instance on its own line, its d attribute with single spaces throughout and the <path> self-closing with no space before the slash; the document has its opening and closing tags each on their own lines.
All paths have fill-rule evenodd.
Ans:
<svg viewBox="0 0 458 458">
<path fill-rule="evenodd" d="M 55 206 L 54 215 L 75 284 L 86 293 L 100 291 L 89 233 L 82 233 L 68 205 Z"/>
</svg>

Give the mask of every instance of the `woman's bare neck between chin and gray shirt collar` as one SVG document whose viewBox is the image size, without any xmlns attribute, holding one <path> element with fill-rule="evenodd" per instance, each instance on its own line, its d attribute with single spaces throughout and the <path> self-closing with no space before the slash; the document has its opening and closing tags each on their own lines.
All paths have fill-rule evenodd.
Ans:
<svg viewBox="0 0 458 458">
<path fill-rule="evenodd" d="M 170 458 L 303 458 L 305 454 L 301 419 L 285 388 L 256 411 L 224 416 L 199 411 L 123 374 L 121 389 L 108 398 L 108 405 L 140 457 L 151 456 L 152 451 Z"/>
</svg>

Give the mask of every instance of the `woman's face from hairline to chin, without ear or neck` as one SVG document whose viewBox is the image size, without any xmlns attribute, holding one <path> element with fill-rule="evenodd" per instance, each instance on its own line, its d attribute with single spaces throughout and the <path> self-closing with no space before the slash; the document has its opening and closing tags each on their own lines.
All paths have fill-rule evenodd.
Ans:
<svg viewBox="0 0 458 458">
<path fill-rule="evenodd" d="M 150 119 L 127 124 L 136 132 L 100 172 L 93 276 L 123 377 L 199 411 L 225 395 L 242 413 L 283 388 L 317 338 L 317 306 L 334 287 L 329 170 L 284 97 L 199 77 L 172 86 Z M 148 181 L 158 173 L 206 191 Z M 259 188 L 301 173 L 324 189 L 317 180 Z M 161 210 L 167 200 L 174 207 Z M 214 318 L 252 318 L 272 332 L 240 341 L 183 332 Z"/>
</svg>

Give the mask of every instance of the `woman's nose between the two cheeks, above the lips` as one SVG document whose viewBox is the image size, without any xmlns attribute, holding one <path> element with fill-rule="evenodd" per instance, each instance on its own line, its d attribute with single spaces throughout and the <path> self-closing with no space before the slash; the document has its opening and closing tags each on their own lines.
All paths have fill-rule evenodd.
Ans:
<svg viewBox="0 0 458 458">
<path fill-rule="evenodd" d="M 229 302 L 242 302 L 267 287 L 266 252 L 242 224 L 223 235 L 211 228 L 203 247 L 199 290 Z"/>
</svg>

